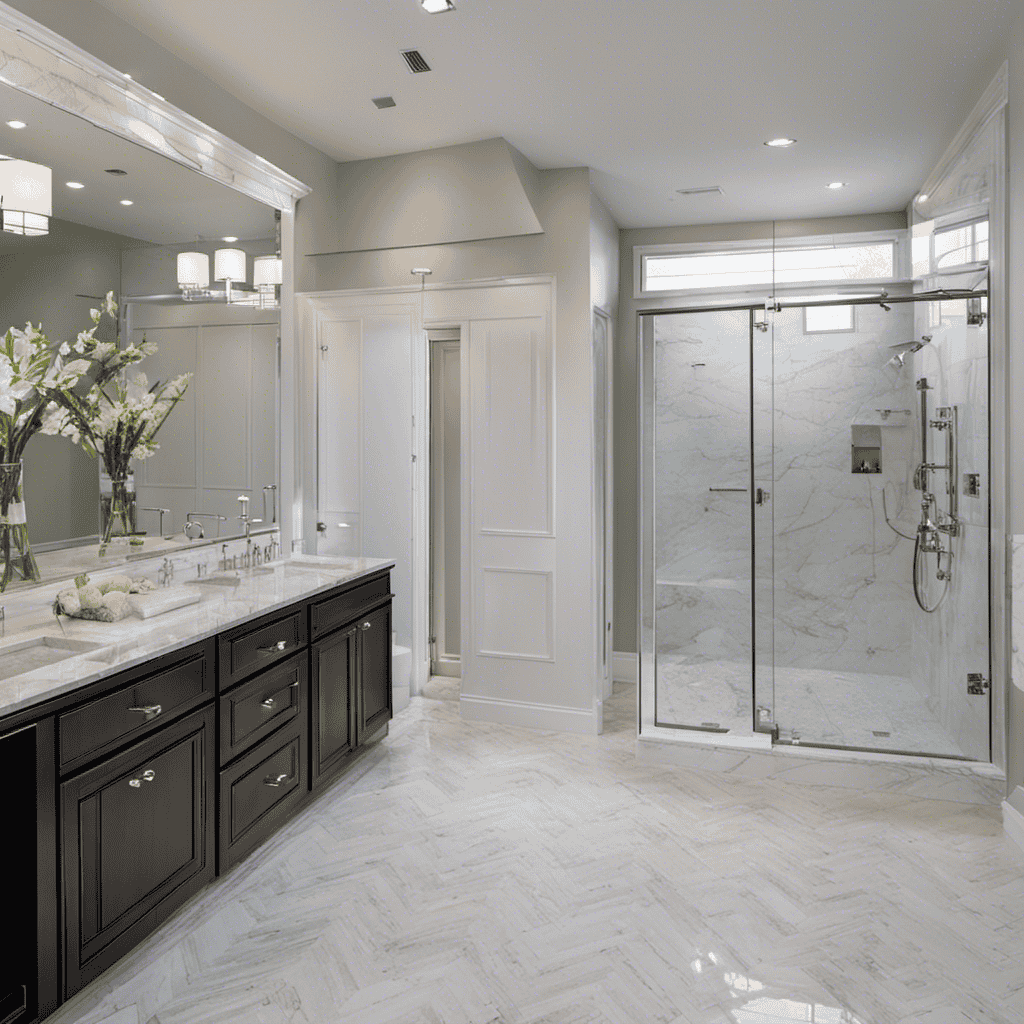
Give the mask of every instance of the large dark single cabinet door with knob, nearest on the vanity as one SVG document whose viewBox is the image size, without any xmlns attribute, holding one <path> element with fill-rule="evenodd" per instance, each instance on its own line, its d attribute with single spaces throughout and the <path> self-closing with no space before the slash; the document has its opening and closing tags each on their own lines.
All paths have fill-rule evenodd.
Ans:
<svg viewBox="0 0 1024 1024">
<path fill-rule="evenodd" d="M 214 755 L 207 708 L 60 786 L 66 996 L 213 878 Z"/>
</svg>

